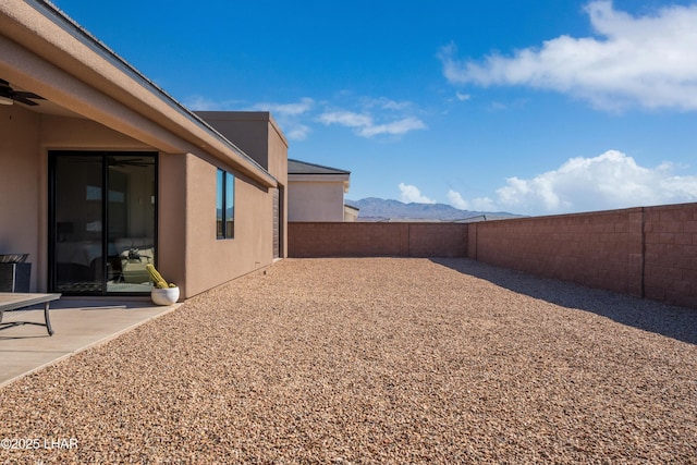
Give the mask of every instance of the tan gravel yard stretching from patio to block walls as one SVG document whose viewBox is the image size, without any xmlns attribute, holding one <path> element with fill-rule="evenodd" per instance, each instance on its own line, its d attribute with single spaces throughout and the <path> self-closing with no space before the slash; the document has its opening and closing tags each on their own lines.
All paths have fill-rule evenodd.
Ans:
<svg viewBox="0 0 697 465">
<path fill-rule="evenodd" d="M 0 399 L 0 438 L 41 441 L 0 463 L 697 463 L 697 310 L 466 259 L 288 259 Z"/>
</svg>

